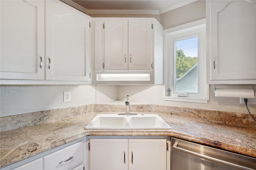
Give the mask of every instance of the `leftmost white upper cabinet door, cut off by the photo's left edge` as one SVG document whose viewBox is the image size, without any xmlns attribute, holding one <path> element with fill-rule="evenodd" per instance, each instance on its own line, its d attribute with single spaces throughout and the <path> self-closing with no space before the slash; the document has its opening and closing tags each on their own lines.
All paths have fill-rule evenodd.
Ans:
<svg viewBox="0 0 256 170">
<path fill-rule="evenodd" d="M 0 1 L 0 78 L 44 80 L 44 0 Z"/>
</svg>

